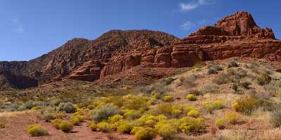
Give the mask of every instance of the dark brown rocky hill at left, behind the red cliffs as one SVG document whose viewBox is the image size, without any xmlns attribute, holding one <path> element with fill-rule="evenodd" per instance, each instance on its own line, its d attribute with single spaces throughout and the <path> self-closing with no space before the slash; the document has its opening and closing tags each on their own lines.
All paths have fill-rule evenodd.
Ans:
<svg viewBox="0 0 281 140">
<path fill-rule="evenodd" d="M 90 41 L 84 38 L 74 38 L 65 45 L 46 55 L 42 55 L 29 62 L 0 62 L 0 75 L 3 83 L 0 87 L 9 83 L 12 87 L 34 87 L 40 83 L 49 83 L 68 76 L 74 69 L 86 64 L 103 66 L 112 56 L 124 54 L 132 50 L 160 48 L 171 45 L 178 38 L 161 31 L 148 30 L 112 30 L 103 34 L 96 40 Z M 89 62 L 94 60 L 94 62 Z M 11 77 L 25 76 L 23 83 L 13 83 Z M 99 76 L 83 80 L 95 80 Z M 32 82 L 30 83 L 30 79 Z"/>
</svg>

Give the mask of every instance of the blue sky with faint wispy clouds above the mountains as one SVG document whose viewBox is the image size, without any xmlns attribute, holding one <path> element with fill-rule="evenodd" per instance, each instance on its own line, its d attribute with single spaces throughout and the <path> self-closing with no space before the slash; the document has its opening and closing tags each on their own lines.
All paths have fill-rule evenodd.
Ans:
<svg viewBox="0 0 281 140">
<path fill-rule="evenodd" d="M 0 61 L 39 57 L 72 38 L 151 29 L 179 38 L 238 10 L 281 38 L 280 0 L 0 0 Z"/>
</svg>

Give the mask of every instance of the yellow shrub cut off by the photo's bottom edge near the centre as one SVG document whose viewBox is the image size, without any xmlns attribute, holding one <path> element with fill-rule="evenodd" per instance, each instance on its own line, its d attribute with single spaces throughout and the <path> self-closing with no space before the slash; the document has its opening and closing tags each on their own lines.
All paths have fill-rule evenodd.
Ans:
<svg viewBox="0 0 281 140">
<path fill-rule="evenodd" d="M 152 140 L 155 137 L 155 132 L 150 127 L 138 130 L 135 134 L 136 140 Z"/>
</svg>

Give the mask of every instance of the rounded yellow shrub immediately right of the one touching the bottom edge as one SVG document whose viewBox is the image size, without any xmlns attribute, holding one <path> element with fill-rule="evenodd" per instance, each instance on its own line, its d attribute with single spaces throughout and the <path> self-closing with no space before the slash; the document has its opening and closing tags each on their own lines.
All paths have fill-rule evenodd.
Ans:
<svg viewBox="0 0 281 140">
<path fill-rule="evenodd" d="M 174 135 L 178 133 L 177 127 L 168 120 L 160 121 L 155 125 L 155 130 L 163 139 L 173 139 Z"/>
</svg>

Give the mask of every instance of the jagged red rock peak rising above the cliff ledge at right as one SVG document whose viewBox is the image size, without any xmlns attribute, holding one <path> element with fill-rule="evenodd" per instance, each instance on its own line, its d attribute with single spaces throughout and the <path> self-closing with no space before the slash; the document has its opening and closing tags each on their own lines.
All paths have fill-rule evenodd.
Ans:
<svg viewBox="0 0 281 140">
<path fill-rule="evenodd" d="M 247 12 L 237 12 L 218 20 L 214 27 L 202 27 L 179 43 L 221 43 L 242 39 L 275 39 L 273 30 L 261 29 L 254 22 L 254 18 Z"/>
</svg>

